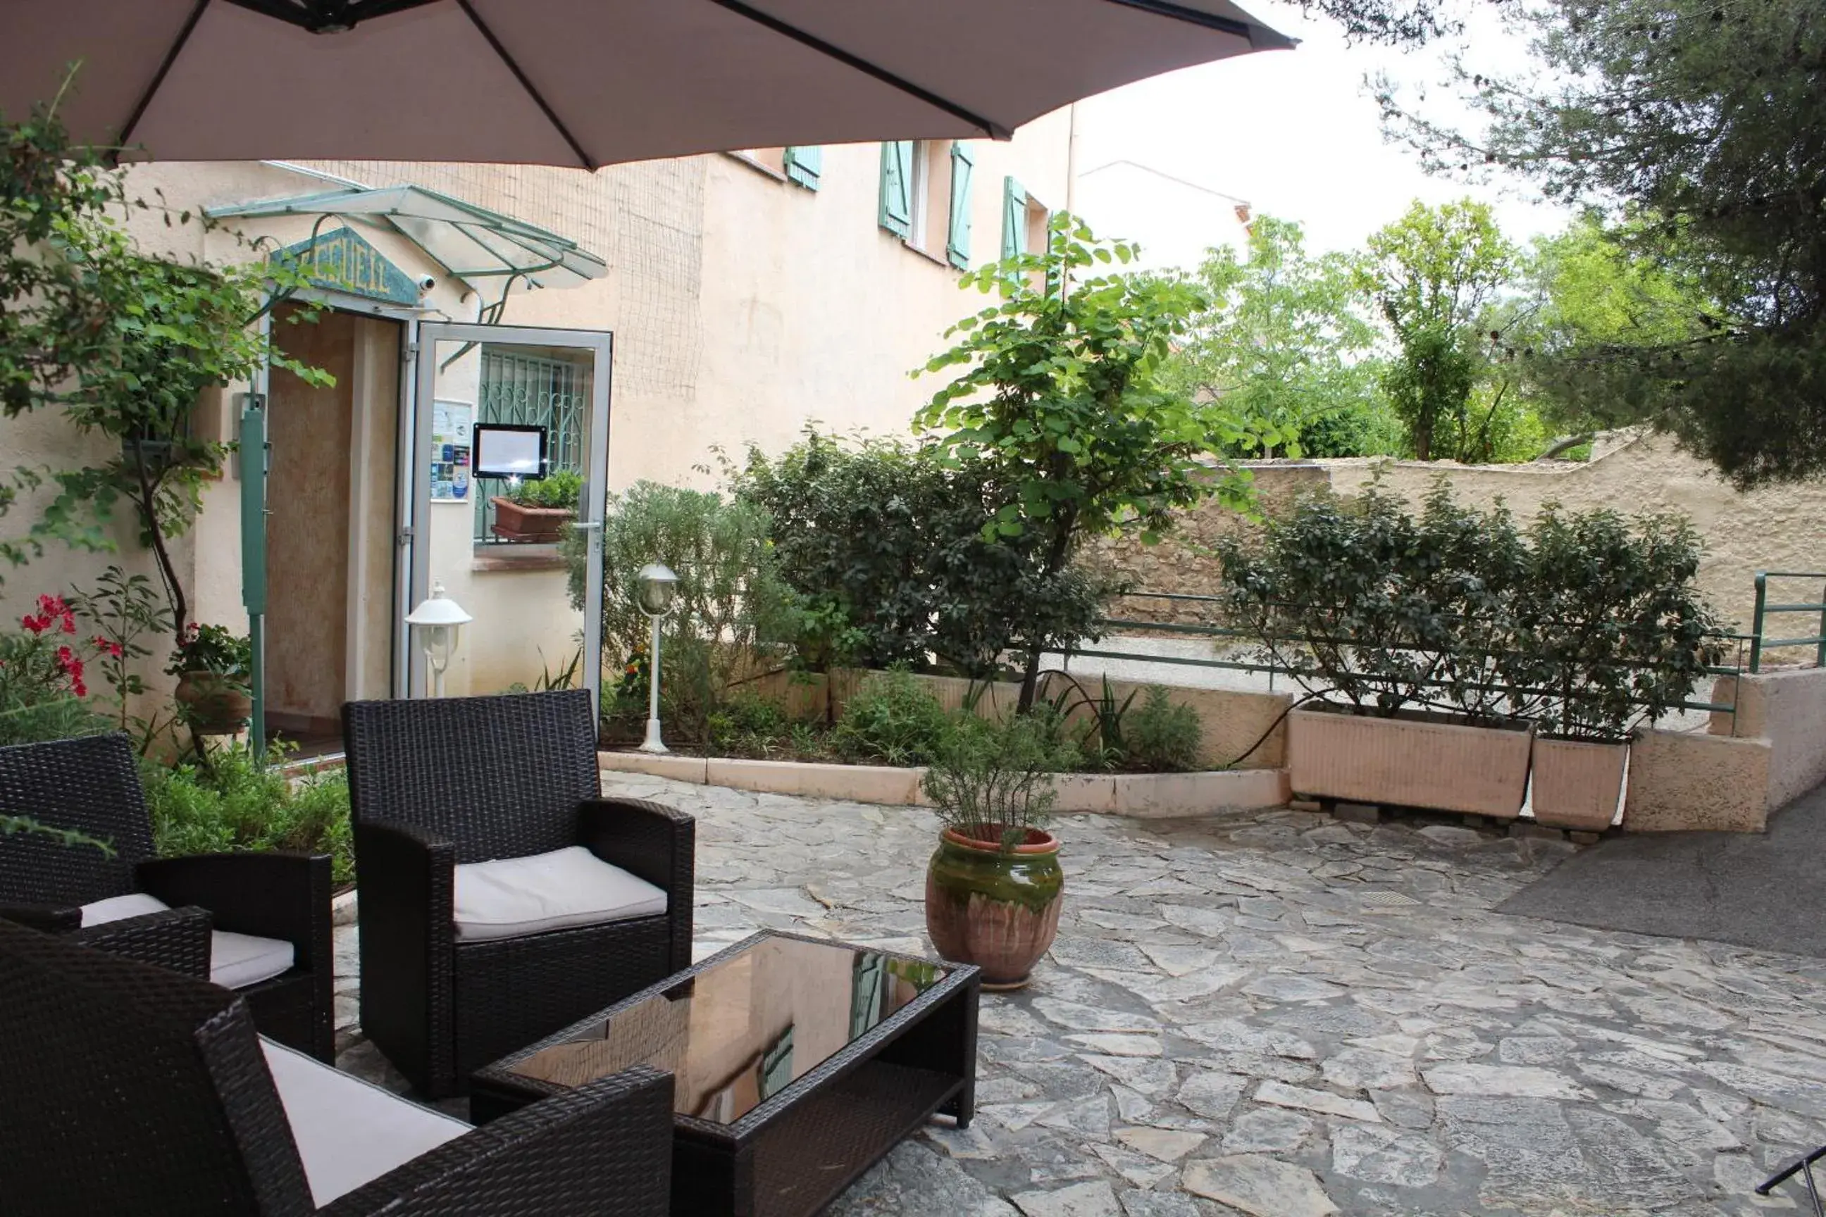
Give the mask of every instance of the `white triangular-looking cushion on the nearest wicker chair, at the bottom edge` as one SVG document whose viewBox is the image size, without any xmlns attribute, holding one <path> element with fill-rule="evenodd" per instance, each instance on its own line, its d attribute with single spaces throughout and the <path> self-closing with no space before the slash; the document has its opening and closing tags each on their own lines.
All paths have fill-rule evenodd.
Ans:
<svg viewBox="0 0 1826 1217">
<path fill-rule="evenodd" d="M 283 1044 L 261 1036 L 259 1045 L 318 1208 L 469 1131 L 458 1118 L 338 1073 Z"/>
</svg>

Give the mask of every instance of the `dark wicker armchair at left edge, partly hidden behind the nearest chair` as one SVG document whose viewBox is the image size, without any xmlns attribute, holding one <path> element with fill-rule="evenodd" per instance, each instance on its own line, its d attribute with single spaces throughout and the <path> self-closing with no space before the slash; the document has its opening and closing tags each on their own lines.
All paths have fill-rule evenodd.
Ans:
<svg viewBox="0 0 1826 1217">
<path fill-rule="evenodd" d="M 126 735 L 0 748 L 0 814 L 75 828 L 113 847 L 106 856 L 37 836 L 0 839 L 0 918 L 190 976 L 214 973 L 247 998 L 261 1033 L 334 1060 L 327 854 L 155 859 Z M 148 912 L 99 923 L 122 903 Z M 254 960 L 252 973 L 239 969 L 236 956 L 248 951 L 278 963 Z"/>
</svg>

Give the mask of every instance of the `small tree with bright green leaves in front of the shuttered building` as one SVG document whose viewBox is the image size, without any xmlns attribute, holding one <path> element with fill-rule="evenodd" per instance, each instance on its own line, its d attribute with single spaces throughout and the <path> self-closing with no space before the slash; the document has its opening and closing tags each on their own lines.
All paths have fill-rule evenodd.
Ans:
<svg viewBox="0 0 1826 1217">
<path fill-rule="evenodd" d="M 1145 544 L 1174 513 L 1218 494 L 1244 507 L 1249 474 L 1220 452 L 1260 447 L 1251 423 L 1220 401 L 1194 403 L 1161 367 L 1209 307 L 1191 283 L 1086 268 L 1134 259 L 1134 246 L 1097 241 L 1059 213 L 1046 250 L 1017 254 L 964 276 L 993 303 L 946 330 L 950 350 L 926 372 L 951 372 L 917 414 L 942 460 L 982 462 L 1006 487 L 984 533 L 1039 538 L 1037 571 L 1065 571 L 1099 533 L 1132 531 Z M 1039 651 L 1028 655 L 1021 708 L 1034 704 Z"/>
</svg>

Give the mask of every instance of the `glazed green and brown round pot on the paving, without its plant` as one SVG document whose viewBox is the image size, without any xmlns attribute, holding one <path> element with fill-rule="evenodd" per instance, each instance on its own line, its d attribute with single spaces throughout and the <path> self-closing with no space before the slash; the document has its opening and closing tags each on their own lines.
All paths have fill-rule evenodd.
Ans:
<svg viewBox="0 0 1826 1217">
<path fill-rule="evenodd" d="M 1019 989 L 1059 932 L 1063 894 L 1050 832 L 1030 828 L 1026 843 L 1002 852 L 999 839 L 946 828 L 926 867 L 926 932 L 946 960 L 982 969 L 984 989 Z"/>
</svg>

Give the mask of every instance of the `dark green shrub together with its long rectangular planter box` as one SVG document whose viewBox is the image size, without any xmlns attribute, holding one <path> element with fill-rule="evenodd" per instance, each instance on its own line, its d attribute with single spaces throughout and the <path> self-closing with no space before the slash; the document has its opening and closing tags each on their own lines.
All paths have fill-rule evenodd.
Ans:
<svg viewBox="0 0 1826 1217">
<path fill-rule="evenodd" d="M 1287 715 L 1296 792 L 1521 814 L 1530 724 L 1503 659 L 1528 564 L 1505 509 L 1464 507 L 1441 480 L 1413 515 L 1371 485 L 1218 551 L 1227 619 L 1315 699 Z"/>
</svg>

